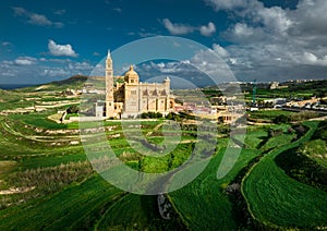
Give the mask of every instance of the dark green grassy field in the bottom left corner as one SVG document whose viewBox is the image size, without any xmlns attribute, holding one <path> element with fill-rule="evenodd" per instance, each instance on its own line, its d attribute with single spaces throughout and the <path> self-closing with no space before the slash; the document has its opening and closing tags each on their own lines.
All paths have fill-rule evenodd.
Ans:
<svg viewBox="0 0 327 231">
<path fill-rule="evenodd" d="M 122 191 L 95 177 L 57 194 L 1 210 L 0 229 L 89 229 L 101 212 L 123 195 Z"/>
</svg>

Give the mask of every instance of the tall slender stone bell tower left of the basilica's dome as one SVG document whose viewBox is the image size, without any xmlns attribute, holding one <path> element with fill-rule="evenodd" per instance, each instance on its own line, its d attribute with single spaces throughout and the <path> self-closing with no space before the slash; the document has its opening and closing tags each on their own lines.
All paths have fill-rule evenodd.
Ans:
<svg viewBox="0 0 327 231">
<path fill-rule="evenodd" d="M 113 105 L 113 68 L 111 53 L 108 50 L 106 60 L 106 117 L 114 117 Z"/>
</svg>

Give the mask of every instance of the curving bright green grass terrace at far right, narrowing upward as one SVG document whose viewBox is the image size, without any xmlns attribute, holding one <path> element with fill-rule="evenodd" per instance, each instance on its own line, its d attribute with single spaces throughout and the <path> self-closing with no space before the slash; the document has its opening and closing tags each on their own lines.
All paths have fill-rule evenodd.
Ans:
<svg viewBox="0 0 327 231">
<path fill-rule="evenodd" d="M 307 142 L 317 122 L 299 141 L 269 151 L 247 173 L 242 192 L 252 216 L 268 227 L 315 228 L 327 223 L 327 194 L 289 178 L 274 161 L 281 153 Z"/>
</svg>

